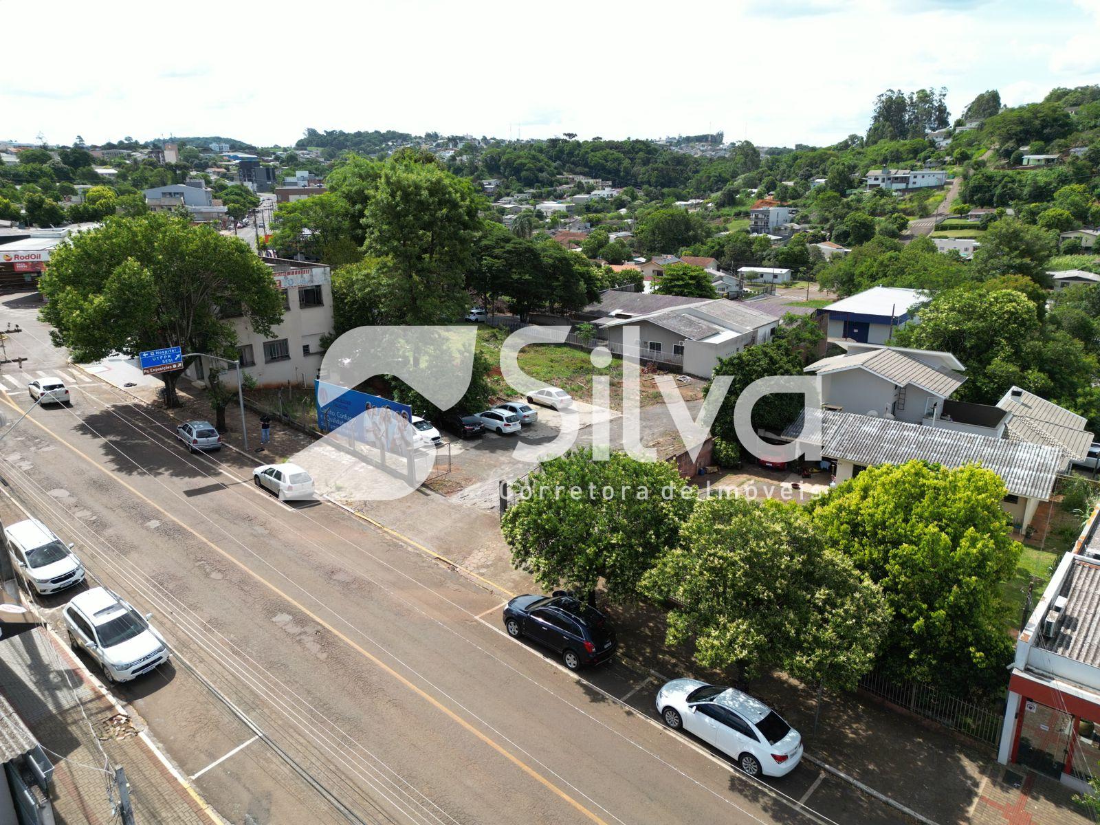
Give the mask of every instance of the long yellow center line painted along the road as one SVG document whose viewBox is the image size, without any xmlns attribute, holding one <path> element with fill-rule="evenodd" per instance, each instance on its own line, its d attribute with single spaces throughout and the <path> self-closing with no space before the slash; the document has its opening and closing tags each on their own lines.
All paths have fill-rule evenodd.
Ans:
<svg viewBox="0 0 1100 825">
<path fill-rule="evenodd" d="M 16 406 L 15 404 L 13 404 L 12 402 L 10 402 L 7 398 L 3 398 L 2 402 L 4 404 L 7 404 L 9 407 L 12 407 L 13 409 L 15 409 L 15 410 L 18 410 L 20 413 L 23 411 L 19 406 Z M 454 713 L 454 711 L 452 711 L 450 707 L 448 707 L 447 705 L 444 705 L 443 703 L 441 703 L 439 700 L 437 700 L 430 693 L 428 693 L 424 689 L 419 688 L 418 685 L 414 684 L 411 681 L 409 681 L 404 675 L 402 675 L 400 673 L 398 673 L 396 670 L 394 670 L 393 668 L 391 668 L 384 661 L 382 661 L 381 659 L 378 659 L 378 657 L 374 656 L 374 653 L 372 653 L 369 650 L 366 650 L 365 648 L 363 648 L 359 642 L 356 642 L 353 639 L 349 638 L 341 630 L 338 630 L 336 627 L 333 627 L 331 624 L 329 624 L 323 618 L 321 618 L 320 616 L 318 616 L 316 613 L 314 613 L 312 610 L 310 610 L 308 607 L 306 607 L 305 605 L 302 605 L 296 598 L 294 598 L 293 596 L 286 594 L 285 592 L 283 592 L 282 590 L 279 590 L 277 586 L 275 586 L 274 584 L 272 584 L 270 581 L 267 581 L 266 579 L 264 579 L 262 575 L 260 575 L 258 573 L 256 573 L 254 570 L 252 570 L 251 568 L 249 568 L 246 564 L 244 564 L 240 560 L 238 560 L 235 557 L 233 557 L 230 553 L 228 553 L 227 551 L 222 550 L 220 547 L 218 547 L 212 541 L 210 541 L 210 539 L 208 539 L 206 536 L 202 536 L 200 532 L 198 532 L 197 530 L 195 530 L 195 528 L 193 528 L 190 525 L 185 524 L 184 521 L 179 520 L 174 515 L 172 515 L 170 513 L 168 513 L 168 510 L 164 509 L 164 507 L 162 507 L 161 505 L 156 504 L 151 498 L 148 498 L 147 496 L 145 496 L 144 494 L 142 494 L 141 492 L 139 492 L 138 490 L 135 490 L 134 487 L 132 487 L 125 481 L 123 481 L 122 479 L 120 479 L 117 473 L 112 473 L 108 468 L 103 466 L 98 461 L 96 461 L 95 459 L 92 459 L 90 455 L 88 455 L 85 452 L 82 452 L 79 448 L 77 448 L 74 444 L 72 444 L 68 441 L 66 441 L 64 438 L 62 438 L 61 436 L 58 436 L 57 433 L 55 433 L 53 430 L 51 430 L 48 427 L 46 427 L 45 425 L 43 425 L 41 421 L 37 421 L 37 420 L 35 420 L 34 418 L 31 418 L 31 417 L 28 417 L 24 420 L 30 421 L 31 424 L 33 424 L 38 429 L 45 431 L 46 433 L 48 433 L 50 436 L 52 436 L 57 441 L 59 441 L 61 443 L 65 444 L 65 447 L 67 447 L 74 453 L 76 453 L 77 455 L 79 455 L 81 459 L 84 459 L 85 461 L 87 461 L 89 464 L 91 464 L 92 466 L 95 466 L 100 472 L 106 473 L 107 475 L 109 475 L 118 484 L 121 484 L 123 487 L 125 487 L 127 490 L 129 490 L 133 495 L 135 495 L 138 498 L 140 498 L 141 501 L 143 501 L 150 507 L 153 507 L 154 509 L 157 509 L 161 513 L 163 513 L 167 518 L 170 518 L 173 521 L 175 521 L 177 525 L 179 525 L 180 527 L 183 527 L 189 534 L 191 534 L 193 536 L 195 536 L 195 538 L 197 538 L 199 541 L 201 541 L 202 543 L 205 543 L 211 550 L 213 550 L 215 552 L 217 552 L 220 556 L 224 557 L 227 560 L 229 560 L 230 562 L 232 562 L 233 564 L 235 564 L 238 568 L 240 568 L 244 573 L 246 573 L 248 575 L 250 575 L 253 579 L 255 579 L 257 582 L 260 582 L 261 584 L 263 584 L 265 587 L 267 587 L 268 590 L 271 590 L 273 593 L 276 593 L 278 596 L 280 596 L 282 598 L 284 598 L 287 602 L 289 602 L 297 609 L 301 610 L 305 615 L 309 616 L 309 618 L 311 618 L 318 625 L 320 625 L 321 627 L 326 628 L 329 632 L 331 632 L 338 639 L 340 639 L 345 645 L 348 645 L 348 647 L 350 647 L 352 650 L 354 650 L 355 652 L 360 653 L 361 656 L 363 656 L 363 658 L 365 658 L 369 661 L 371 661 L 372 663 L 374 663 L 377 668 L 380 668 L 381 670 L 383 670 L 386 673 L 388 673 L 389 675 L 392 675 L 394 679 L 396 679 L 403 685 L 405 685 L 410 691 L 413 691 L 414 693 L 416 693 L 418 696 L 420 696 L 421 698 L 424 698 L 426 702 L 428 702 L 429 704 L 431 704 L 433 707 L 436 707 L 437 710 L 439 710 L 442 713 L 447 714 L 447 716 L 449 716 L 455 723 L 458 723 L 463 728 L 465 728 L 466 730 L 469 730 L 471 734 L 473 734 L 474 736 L 476 736 L 485 745 L 488 745 L 491 748 L 493 748 L 493 750 L 495 750 L 497 754 L 499 754 L 501 756 L 503 756 L 509 762 L 512 762 L 517 768 L 519 768 L 520 770 L 522 770 L 531 779 L 537 780 L 539 783 L 541 783 L 548 790 L 552 791 L 559 798 L 561 798 L 562 800 L 564 800 L 565 802 L 568 802 L 570 805 L 572 805 L 574 809 L 576 809 L 580 813 L 582 813 L 586 817 L 588 817 L 592 822 L 597 823 L 598 825 L 607 825 L 607 823 L 604 820 L 602 820 L 600 816 L 597 816 L 593 811 L 590 811 L 587 807 L 585 807 L 584 805 L 582 805 L 575 799 L 573 799 L 572 796 L 570 796 L 568 793 L 565 793 L 565 791 L 563 791 L 561 788 L 559 788 L 558 785 L 556 785 L 549 779 L 547 779 L 546 777 L 543 777 L 537 770 L 535 770 L 534 768 L 531 768 L 529 765 L 527 765 L 527 762 L 525 762 L 521 759 L 519 759 L 515 754 L 513 754 L 512 751 L 509 751 L 503 745 L 501 745 L 496 740 L 494 740 L 494 739 L 490 738 L 488 736 L 486 736 L 485 734 L 483 734 L 481 730 L 479 730 L 476 727 L 474 727 L 471 723 L 469 723 L 466 719 L 464 719 L 461 716 L 459 716 L 457 713 Z M 435 554 L 435 553 L 432 553 L 432 554 Z"/>
</svg>

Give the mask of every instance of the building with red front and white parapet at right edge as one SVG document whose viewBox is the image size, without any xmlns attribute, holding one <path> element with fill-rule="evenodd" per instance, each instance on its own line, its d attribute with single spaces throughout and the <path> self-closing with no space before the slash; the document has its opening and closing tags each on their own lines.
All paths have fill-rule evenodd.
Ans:
<svg viewBox="0 0 1100 825">
<path fill-rule="evenodd" d="M 1100 507 L 1016 637 L 997 759 L 1093 793 L 1100 756 Z"/>
</svg>

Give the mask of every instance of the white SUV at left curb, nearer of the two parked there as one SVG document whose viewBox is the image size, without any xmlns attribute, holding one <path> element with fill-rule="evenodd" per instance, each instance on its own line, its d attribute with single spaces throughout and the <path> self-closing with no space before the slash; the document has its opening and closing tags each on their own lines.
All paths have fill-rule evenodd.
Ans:
<svg viewBox="0 0 1100 825">
<path fill-rule="evenodd" d="M 129 682 L 172 658 L 148 619 L 106 587 L 73 596 L 62 610 L 69 647 L 84 648 L 108 682 Z"/>
</svg>

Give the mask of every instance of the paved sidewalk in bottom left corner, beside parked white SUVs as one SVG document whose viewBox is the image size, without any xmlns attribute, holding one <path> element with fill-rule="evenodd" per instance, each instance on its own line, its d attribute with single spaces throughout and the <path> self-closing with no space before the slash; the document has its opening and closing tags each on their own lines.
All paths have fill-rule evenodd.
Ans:
<svg viewBox="0 0 1100 825">
<path fill-rule="evenodd" d="M 139 823 L 211 825 L 221 817 L 173 776 L 143 736 L 144 724 L 124 714 L 73 653 L 40 628 L 0 647 L 0 692 L 54 763 L 51 798 L 57 821 L 109 825 L 112 816 L 105 763 L 125 769 Z M 102 750 L 100 750 L 102 747 Z M 105 758 L 106 754 L 106 758 Z M 118 793 L 114 792 L 114 801 Z"/>
</svg>

